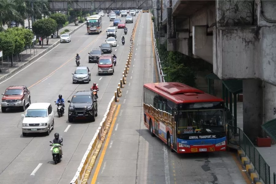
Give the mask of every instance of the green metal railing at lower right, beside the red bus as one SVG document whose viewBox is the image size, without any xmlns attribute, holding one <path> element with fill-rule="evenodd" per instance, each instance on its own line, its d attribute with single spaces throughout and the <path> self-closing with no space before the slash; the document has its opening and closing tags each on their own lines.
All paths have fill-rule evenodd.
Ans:
<svg viewBox="0 0 276 184">
<path fill-rule="evenodd" d="M 265 184 L 270 184 L 270 167 L 245 133 L 240 128 L 228 124 L 227 136 L 229 143 L 240 146 L 244 151 L 250 163 L 254 166 L 254 170 L 259 174 L 259 178 L 262 179 Z M 275 176 L 274 173 L 273 178 Z"/>
</svg>

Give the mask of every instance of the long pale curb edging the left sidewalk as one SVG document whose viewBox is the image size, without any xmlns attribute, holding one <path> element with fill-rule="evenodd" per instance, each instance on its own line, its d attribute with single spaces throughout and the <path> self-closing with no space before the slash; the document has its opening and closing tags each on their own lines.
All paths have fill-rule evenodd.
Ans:
<svg viewBox="0 0 276 184">
<path fill-rule="evenodd" d="M 81 25 L 79 25 L 78 27 L 76 27 L 75 29 L 73 29 L 72 31 L 69 32 L 69 34 L 74 33 L 76 30 L 78 30 L 79 28 L 81 28 L 83 25 L 85 25 L 85 22 L 82 23 Z M 66 27 L 66 26 L 65 26 Z M 10 77 L 11 75 L 13 75 L 14 73 L 16 73 L 17 71 L 19 71 L 21 68 L 25 67 L 26 65 L 28 65 L 29 63 L 32 63 L 35 59 L 37 59 L 38 57 L 42 56 L 43 54 L 45 54 L 46 52 L 48 52 L 49 50 L 51 50 L 53 47 L 55 47 L 57 44 L 59 43 L 59 41 L 56 41 L 54 44 L 52 44 L 50 47 L 48 47 L 47 49 L 45 49 L 44 51 L 38 53 L 36 56 L 34 56 L 32 59 L 30 59 L 29 61 L 25 62 L 24 64 L 20 65 L 19 67 L 17 67 L 16 69 L 14 69 L 13 71 L 10 71 L 8 74 L 0 77 L 0 81 Z"/>
</svg>

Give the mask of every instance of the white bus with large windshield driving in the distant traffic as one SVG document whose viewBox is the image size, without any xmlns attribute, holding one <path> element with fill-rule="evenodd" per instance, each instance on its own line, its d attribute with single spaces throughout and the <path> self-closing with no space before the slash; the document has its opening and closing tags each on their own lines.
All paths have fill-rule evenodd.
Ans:
<svg viewBox="0 0 276 184">
<path fill-rule="evenodd" d="M 87 33 L 98 33 L 102 32 L 102 16 L 91 15 L 86 20 Z"/>
</svg>

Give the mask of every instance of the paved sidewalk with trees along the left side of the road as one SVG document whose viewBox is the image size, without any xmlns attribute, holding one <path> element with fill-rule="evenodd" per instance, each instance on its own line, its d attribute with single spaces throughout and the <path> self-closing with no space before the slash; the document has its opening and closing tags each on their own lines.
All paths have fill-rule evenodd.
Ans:
<svg viewBox="0 0 276 184">
<path fill-rule="evenodd" d="M 81 23 L 78 26 L 75 26 L 75 23 L 70 23 L 67 26 L 59 29 L 59 33 L 64 31 L 65 29 L 69 29 L 70 32 L 69 34 L 74 33 L 77 29 L 85 25 L 85 23 Z M 18 70 L 20 70 L 22 67 L 25 65 L 29 64 L 32 62 L 34 59 L 37 59 L 38 57 L 42 56 L 44 53 L 52 49 L 56 44 L 59 43 L 59 38 L 51 38 L 49 37 L 49 42 L 48 45 L 46 45 L 46 39 L 44 39 L 44 45 L 43 48 L 37 43 L 31 46 L 32 48 L 28 48 L 27 50 L 24 50 L 19 54 L 19 56 L 13 56 L 13 66 L 11 66 L 11 60 L 12 57 L 9 57 L 9 62 L 8 60 L 3 60 L 2 58 L 0 59 L 0 81 L 3 79 L 6 79 L 10 75 L 14 74 Z M 22 58 L 22 59 L 21 59 Z"/>
</svg>

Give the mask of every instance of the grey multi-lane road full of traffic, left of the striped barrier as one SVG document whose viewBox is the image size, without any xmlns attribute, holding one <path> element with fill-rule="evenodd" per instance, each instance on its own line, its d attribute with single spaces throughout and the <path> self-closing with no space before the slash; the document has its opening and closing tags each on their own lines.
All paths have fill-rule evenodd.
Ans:
<svg viewBox="0 0 276 184">
<path fill-rule="evenodd" d="M 137 16 L 136 16 L 137 17 Z M 136 18 L 134 17 L 134 19 Z M 120 17 L 121 18 L 121 17 Z M 125 18 L 121 18 L 125 20 Z M 25 67 L 12 78 L 0 82 L 0 91 L 4 93 L 10 85 L 25 85 L 31 91 L 31 102 L 50 102 L 55 112 L 55 128 L 50 136 L 41 134 L 22 136 L 23 112 L 9 110 L 0 112 L 0 183 L 6 184 L 63 184 L 70 183 L 74 177 L 80 161 L 92 140 L 96 129 L 105 113 L 109 101 L 117 90 L 118 82 L 122 78 L 130 43 L 133 24 L 129 28 L 126 43 L 121 44 L 123 29 L 117 31 L 118 46 L 113 47 L 117 56 L 117 65 L 114 75 L 98 76 L 98 67 L 95 63 L 88 63 L 88 52 L 98 48 L 106 40 L 109 17 L 103 17 L 103 29 L 100 35 L 88 35 L 86 26 L 83 26 L 71 35 L 71 43 L 58 44 L 49 53 Z M 37 48 L 39 49 L 39 48 Z M 75 71 L 74 56 L 79 53 L 81 65 L 88 66 L 91 71 L 89 84 L 72 84 L 71 73 Z M 112 53 L 112 54 L 113 54 Z M 68 103 L 72 94 L 79 90 L 90 90 L 93 82 L 98 83 L 98 117 L 95 122 L 74 122 L 67 120 Z M 54 101 L 62 94 L 65 99 L 66 113 L 58 117 Z M 64 132 L 65 129 L 71 127 Z M 59 132 L 63 137 L 63 159 L 55 165 L 52 161 L 49 141 L 53 140 L 54 133 Z M 41 165 L 42 164 L 42 165 Z M 40 167 L 35 175 L 30 175 L 37 166 Z"/>
</svg>

